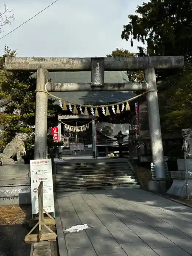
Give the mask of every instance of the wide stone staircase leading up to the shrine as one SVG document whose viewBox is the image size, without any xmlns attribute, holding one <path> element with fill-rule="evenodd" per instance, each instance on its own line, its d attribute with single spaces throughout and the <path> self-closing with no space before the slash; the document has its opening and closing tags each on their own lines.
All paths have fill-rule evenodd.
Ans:
<svg viewBox="0 0 192 256">
<path fill-rule="evenodd" d="M 127 159 L 72 159 L 56 162 L 56 191 L 139 188 Z"/>
</svg>

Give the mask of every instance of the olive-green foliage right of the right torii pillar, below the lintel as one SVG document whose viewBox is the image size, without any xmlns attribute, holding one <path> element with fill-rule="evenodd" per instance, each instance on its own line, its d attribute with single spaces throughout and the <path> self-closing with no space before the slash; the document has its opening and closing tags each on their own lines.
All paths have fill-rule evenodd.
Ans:
<svg viewBox="0 0 192 256">
<path fill-rule="evenodd" d="M 192 127 L 192 67 L 184 72 L 167 78 L 166 90 L 159 93 L 159 109 L 162 129 L 181 132 Z"/>
</svg>

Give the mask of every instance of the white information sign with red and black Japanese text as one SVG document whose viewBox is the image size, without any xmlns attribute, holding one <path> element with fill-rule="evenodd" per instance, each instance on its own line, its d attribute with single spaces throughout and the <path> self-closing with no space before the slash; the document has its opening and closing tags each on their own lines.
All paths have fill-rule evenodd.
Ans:
<svg viewBox="0 0 192 256">
<path fill-rule="evenodd" d="M 37 189 L 43 181 L 43 204 L 46 212 L 54 212 L 53 175 L 51 159 L 30 160 L 31 208 L 32 214 L 38 213 Z"/>
</svg>

